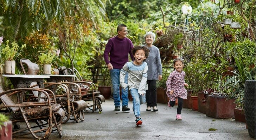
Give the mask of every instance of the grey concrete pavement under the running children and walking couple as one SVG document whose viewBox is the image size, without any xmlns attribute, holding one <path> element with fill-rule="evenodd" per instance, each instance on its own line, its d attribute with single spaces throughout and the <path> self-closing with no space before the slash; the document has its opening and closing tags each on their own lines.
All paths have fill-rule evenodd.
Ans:
<svg viewBox="0 0 256 140">
<path fill-rule="evenodd" d="M 112 99 L 102 103 L 102 113 L 85 113 L 85 121 L 62 124 L 63 138 L 52 132 L 50 140 L 253 140 L 249 137 L 245 123 L 234 119 L 215 119 L 191 109 L 182 109 L 183 120 L 175 120 L 177 106 L 158 104 L 158 112 L 146 111 L 141 105 L 143 124 L 136 126 L 132 111 L 114 111 Z M 208 131 L 216 128 L 217 131 Z M 13 140 L 33 139 L 25 135 Z"/>
</svg>

